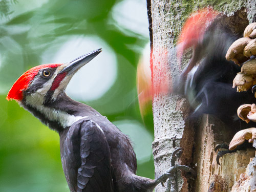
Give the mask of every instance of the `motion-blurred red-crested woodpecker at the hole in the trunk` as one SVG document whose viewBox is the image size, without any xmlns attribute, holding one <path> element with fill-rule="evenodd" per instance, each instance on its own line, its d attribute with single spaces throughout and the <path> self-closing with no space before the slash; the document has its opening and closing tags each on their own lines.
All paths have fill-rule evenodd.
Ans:
<svg viewBox="0 0 256 192">
<path fill-rule="evenodd" d="M 221 17 L 206 8 L 187 19 L 178 40 L 177 58 L 181 62 L 190 47 L 193 47 L 193 56 L 174 83 L 174 92 L 186 96 L 194 109 L 192 116 L 214 114 L 224 122 L 232 122 L 238 120 L 237 108 L 254 97 L 232 88 L 233 78 L 240 69 L 234 62 L 227 61 L 225 55 L 238 37 L 219 25 Z"/>
</svg>

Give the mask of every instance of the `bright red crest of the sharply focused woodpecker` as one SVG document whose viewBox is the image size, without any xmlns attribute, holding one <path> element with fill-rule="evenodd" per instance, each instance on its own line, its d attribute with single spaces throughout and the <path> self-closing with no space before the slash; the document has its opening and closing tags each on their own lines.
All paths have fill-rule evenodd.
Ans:
<svg viewBox="0 0 256 192">
<path fill-rule="evenodd" d="M 33 67 L 26 71 L 22 76 L 20 76 L 15 83 L 13 84 L 12 88 L 10 89 L 6 99 L 9 101 L 10 99 L 14 99 L 16 101 L 21 101 L 23 99 L 23 91 L 27 90 L 29 84 L 34 79 L 34 77 L 38 74 L 40 69 L 44 68 L 56 68 L 62 65 L 62 63 L 54 63 L 54 64 L 45 64 Z"/>
</svg>

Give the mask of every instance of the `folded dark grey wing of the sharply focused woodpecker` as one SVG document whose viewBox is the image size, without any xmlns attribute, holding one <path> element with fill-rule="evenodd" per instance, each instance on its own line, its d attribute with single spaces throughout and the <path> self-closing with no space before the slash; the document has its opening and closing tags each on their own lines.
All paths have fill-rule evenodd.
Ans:
<svg viewBox="0 0 256 192">
<path fill-rule="evenodd" d="M 72 134 L 72 148 L 79 148 L 79 152 L 73 150 L 73 154 L 68 154 L 80 159 L 76 167 L 77 183 L 71 185 L 77 185 L 77 192 L 114 191 L 110 149 L 100 127 L 92 120 L 79 120 L 70 127 L 69 133 Z"/>
</svg>

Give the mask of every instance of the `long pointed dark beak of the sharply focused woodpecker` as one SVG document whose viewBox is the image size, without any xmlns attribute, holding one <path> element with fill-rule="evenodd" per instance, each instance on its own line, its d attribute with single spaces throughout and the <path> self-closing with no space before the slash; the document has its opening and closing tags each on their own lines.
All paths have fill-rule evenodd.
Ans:
<svg viewBox="0 0 256 192">
<path fill-rule="evenodd" d="M 68 72 L 69 74 L 75 73 L 78 69 L 80 69 L 82 66 L 86 65 L 86 63 L 90 62 L 94 57 L 96 57 L 101 51 L 102 49 L 97 49 L 72 60 L 68 64 L 68 66 L 66 66 L 59 72 L 59 74 L 64 72 Z"/>
</svg>

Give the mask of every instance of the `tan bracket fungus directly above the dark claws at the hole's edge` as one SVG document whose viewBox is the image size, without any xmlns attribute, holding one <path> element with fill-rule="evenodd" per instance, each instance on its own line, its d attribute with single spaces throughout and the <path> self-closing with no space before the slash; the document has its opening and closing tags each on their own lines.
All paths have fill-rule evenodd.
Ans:
<svg viewBox="0 0 256 192">
<path fill-rule="evenodd" d="M 241 145 L 245 142 L 245 140 L 249 140 L 249 142 L 253 142 L 256 139 L 256 128 L 251 127 L 245 130 L 241 130 L 236 135 L 234 135 L 233 139 L 229 144 L 229 150 L 234 150 L 238 145 Z"/>
</svg>

